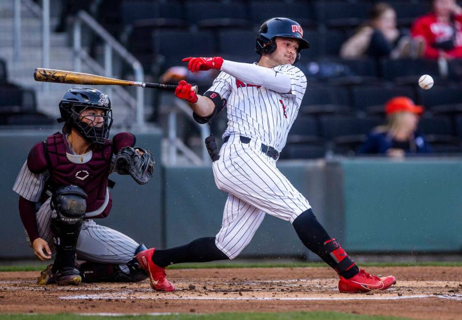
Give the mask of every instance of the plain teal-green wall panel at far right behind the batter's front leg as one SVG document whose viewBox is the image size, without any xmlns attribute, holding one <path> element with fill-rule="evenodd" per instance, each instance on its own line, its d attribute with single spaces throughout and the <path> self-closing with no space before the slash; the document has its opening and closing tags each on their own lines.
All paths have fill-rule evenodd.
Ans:
<svg viewBox="0 0 462 320">
<path fill-rule="evenodd" d="M 462 162 L 351 160 L 345 245 L 357 251 L 462 251 Z"/>
</svg>

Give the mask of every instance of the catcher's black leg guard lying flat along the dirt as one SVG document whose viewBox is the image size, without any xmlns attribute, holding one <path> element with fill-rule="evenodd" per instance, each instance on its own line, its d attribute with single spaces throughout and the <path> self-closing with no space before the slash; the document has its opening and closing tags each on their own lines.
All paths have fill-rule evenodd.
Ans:
<svg viewBox="0 0 462 320">
<path fill-rule="evenodd" d="M 138 252 L 147 250 L 144 244 L 138 246 Z M 147 278 L 146 272 L 140 268 L 135 258 L 126 265 L 85 262 L 79 266 L 83 282 L 140 282 Z"/>
</svg>

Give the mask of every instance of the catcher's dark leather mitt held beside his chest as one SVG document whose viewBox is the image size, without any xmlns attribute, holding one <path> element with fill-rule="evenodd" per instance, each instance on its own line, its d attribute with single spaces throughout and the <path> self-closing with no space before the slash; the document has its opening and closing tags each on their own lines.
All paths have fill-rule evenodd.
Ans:
<svg viewBox="0 0 462 320">
<path fill-rule="evenodd" d="M 140 155 L 132 147 L 124 147 L 119 150 L 115 155 L 115 172 L 130 174 L 138 184 L 146 184 L 154 171 L 154 160 L 149 150 L 139 147 L 137 149 L 143 151 L 144 154 Z"/>
</svg>

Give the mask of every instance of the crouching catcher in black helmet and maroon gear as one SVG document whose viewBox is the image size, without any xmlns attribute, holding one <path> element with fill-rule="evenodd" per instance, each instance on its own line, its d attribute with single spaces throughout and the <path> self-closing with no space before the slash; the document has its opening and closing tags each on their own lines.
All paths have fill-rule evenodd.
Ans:
<svg viewBox="0 0 462 320">
<path fill-rule="evenodd" d="M 38 283 L 142 281 L 147 275 L 134 256 L 146 247 L 93 219 L 111 211 L 108 187 L 114 182 L 108 176 L 130 174 L 145 184 L 154 169 L 152 155 L 134 147 L 132 133 L 108 139 L 111 101 L 96 89 L 70 89 L 59 111 L 62 133 L 32 147 L 13 187 L 35 256 L 43 261 L 56 253 Z M 77 265 L 77 259 L 84 262 Z"/>
</svg>

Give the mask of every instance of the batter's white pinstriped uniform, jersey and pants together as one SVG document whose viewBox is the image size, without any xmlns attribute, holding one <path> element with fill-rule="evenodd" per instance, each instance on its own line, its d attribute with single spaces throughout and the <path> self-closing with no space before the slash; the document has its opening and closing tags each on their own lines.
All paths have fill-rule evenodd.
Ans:
<svg viewBox="0 0 462 320">
<path fill-rule="evenodd" d="M 215 244 L 231 259 L 250 243 L 265 214 L 293 222 L 311 208 L 276 168 L 276 160 L 261 152 L 261 144 L 278 151 L 284 148 L 306 90 L 306 77 L 297 67 L 272 70 L 290 77 L 290 93 L 244 83 L 224 72 L 209 89 L 227 100 L 228 127 L 223 137 L 230 138 L 212 167 L 218 189 L 229 193 Z M 239 136 L 251 140 L 242 142 Z"/>
</svg>

